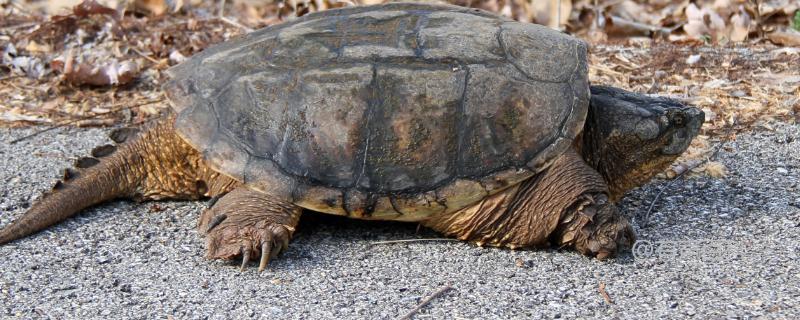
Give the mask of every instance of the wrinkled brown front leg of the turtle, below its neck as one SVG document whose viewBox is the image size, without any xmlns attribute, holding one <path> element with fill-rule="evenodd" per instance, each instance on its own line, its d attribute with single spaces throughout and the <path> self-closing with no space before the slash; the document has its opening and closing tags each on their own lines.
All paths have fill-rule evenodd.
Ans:
<svg viewBox="0 0 800 320">
<path fill-rule="evenodd" d="M 516 249 L 552 242 L 604 259 L 635 239 L 628 220 L 607 199 L 603 178 L 570 149 L 519 185 L 423 224 L 478 245 Z"/>
</svg>

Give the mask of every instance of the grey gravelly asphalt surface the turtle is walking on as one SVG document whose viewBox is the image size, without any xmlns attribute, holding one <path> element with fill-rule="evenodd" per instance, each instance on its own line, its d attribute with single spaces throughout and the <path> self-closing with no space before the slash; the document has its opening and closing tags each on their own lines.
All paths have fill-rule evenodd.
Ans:
<svg viewBox="0 0 800 320">
<path fill-rule="evenodd" d="M 63 129 L 0 144 L 0 225 L 106 131 Z M 0 140 L 30 132 L 2 129 Z M 607 262 L 449 241 L 372 245 L 436 234 L 307 214 L 268 271 L 252 265 L 242 273 L 203 259 L 194 228 L 204 203 L 113 202 L 0 247 L 0 318 L 395 318 L 450 285 L 416 318 L 797 319 L 798 149 L 800 126 L 778 125 L 720 151 L 726 179 L 656 181 L 631 192 L 621 206 L 643 242 L 636 258 Z"/>
</svg>

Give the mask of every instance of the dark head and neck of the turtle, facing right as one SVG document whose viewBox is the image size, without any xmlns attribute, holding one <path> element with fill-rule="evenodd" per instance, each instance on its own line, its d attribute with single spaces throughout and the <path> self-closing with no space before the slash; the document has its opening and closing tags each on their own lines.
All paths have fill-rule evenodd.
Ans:
<svg viewBox="0 0 800 320">
<path fill-rule="evenodd" d="M 675 161 L 705 119 L 700 109 L 672 99 L 604 86 L 591 93 L 581 151 L 614 201 Z"/>
</svg>

